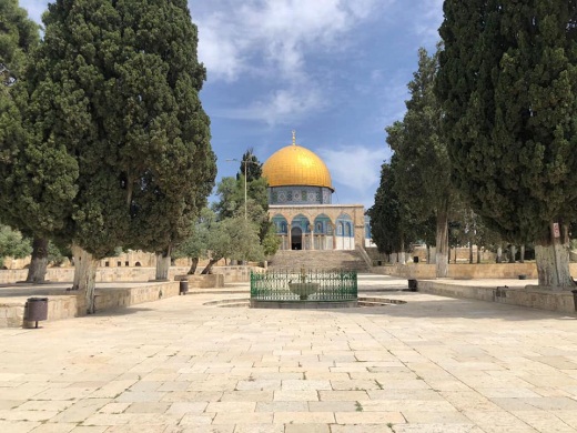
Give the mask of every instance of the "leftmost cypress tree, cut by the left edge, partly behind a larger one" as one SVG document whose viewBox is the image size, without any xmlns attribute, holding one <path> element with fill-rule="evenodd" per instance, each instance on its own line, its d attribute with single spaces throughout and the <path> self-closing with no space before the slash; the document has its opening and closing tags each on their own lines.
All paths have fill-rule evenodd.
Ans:
<svg viewBox="0 0 577 433">
<path fill-rule="evenodd" d="M 0 2 L 0 220 L 34 236 L 27 281 L 43 282 L 48 238 L 61 226 L 62 209 L 74 194 L 68 182 L 74 168 L 67 167 L 58 150 L 27 151 L 34 140 L 27 121 L 33 67 L 29 59 L 40 42 L 40 27 L 17 0 L 6 0 Z M 50 171 L 36 170 L 41 159 L 49 161 Z"/>
</svg>

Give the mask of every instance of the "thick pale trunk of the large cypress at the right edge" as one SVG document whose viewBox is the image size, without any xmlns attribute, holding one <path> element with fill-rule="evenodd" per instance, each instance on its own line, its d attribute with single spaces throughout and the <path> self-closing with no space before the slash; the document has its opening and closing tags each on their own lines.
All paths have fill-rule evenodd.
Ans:
<svg viewBox="0 0 577 433">
<path fill-rule="evenodd" d="M 549 224 L 550 234 L 535 243 L 535 260 L 539 285 L 575 288 L 569 272 L 569 231 L 565 224 L 556 229 Z"/>
</svg>

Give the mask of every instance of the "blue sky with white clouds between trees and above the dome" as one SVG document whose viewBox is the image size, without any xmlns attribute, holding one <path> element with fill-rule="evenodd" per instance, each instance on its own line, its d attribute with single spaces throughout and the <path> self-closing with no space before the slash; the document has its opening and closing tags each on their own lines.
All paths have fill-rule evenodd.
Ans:
<svg viewBox="0 0 577 433">
<path fill-rule="evenodd" d="M 40 22 L 49 1 L 20 0 Z M 201 93 L 219 177 L 249 148 L 264 162 L 296 142 L 333 178 L 333 203 L 371 207 L 384 128 L 401 120 L 417 50 L 438 41 L 443 0 L 196 0 Z"/>
</svg>

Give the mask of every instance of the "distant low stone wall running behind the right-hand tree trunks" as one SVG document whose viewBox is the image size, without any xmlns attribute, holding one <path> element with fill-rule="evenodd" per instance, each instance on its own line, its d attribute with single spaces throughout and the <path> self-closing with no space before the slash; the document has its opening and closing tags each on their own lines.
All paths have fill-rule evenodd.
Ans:
<svg viewBox="0 0 577 433">
<path fill-rule="evenodd" d="M 569 271 L 577 278 L 577 263 L 569 263 Z M 374 266 L 373 273 L 382 275 L 394 275 L 415 280 L 431 280 L 436 278 L 435 264 L 393 264 L 386 266 Z M 527 263 L 479 263 L 479 264 L 449 264 L 448 278 L 458 280 L 473 279 L 517 279 L 526 275 L 527 279 L 537 278 L 535 262 Z"/>
</svg>

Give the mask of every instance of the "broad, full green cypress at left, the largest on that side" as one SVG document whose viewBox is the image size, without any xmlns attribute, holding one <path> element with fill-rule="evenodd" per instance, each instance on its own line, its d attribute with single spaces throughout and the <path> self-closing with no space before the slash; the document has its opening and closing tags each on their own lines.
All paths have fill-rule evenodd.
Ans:
<svg viewBox="0 0 577 433">
<path fill-rule="evenodd" d="M 215 157 L 199 98 L 205 70 L 185 0 L 58 0 L 44 26 L 34 150 L 63 149 L 78 164 L 59 235 L 84 251 L 78 283 L 92 312 L 95 259 L 124 245 L 170 260 L 206 202 Z"/>
</svg>

